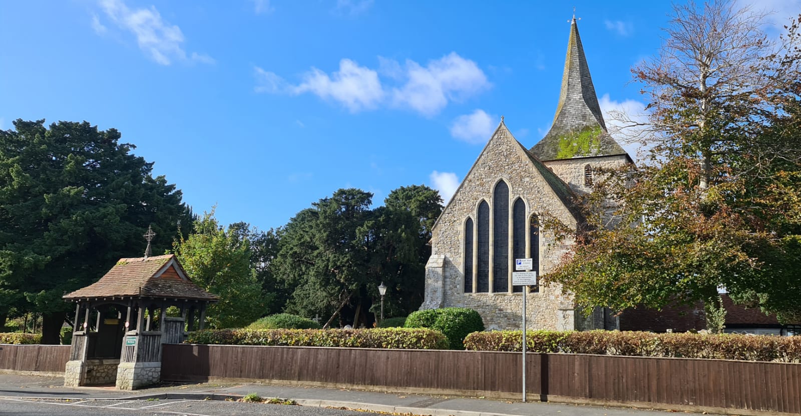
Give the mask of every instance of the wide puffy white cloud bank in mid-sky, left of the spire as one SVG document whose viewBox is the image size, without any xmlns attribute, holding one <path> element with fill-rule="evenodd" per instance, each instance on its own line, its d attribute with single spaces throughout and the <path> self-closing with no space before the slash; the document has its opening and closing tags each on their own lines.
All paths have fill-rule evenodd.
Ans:
<svg viewBox="0 0 801 416">
<path fill-rule="evenodd" d="M 330 75 L 312 67 L 297 85 L 280 75 L 256 67 L 256 92 L 298 95 L 311 92 L 343 104 L 351 112 L 380 106 L 411 108 L 425 116 L 441 111 L 450 101 L 461 100 L 490 87 L 484 72 L 473 61 L 456 53 L 434 60 L 426 67 L 407 60 L 405 66 L 378 57 L 379 67 L 361 67 L 351 59 L 340 60 L 339 71 Z M 379 74 L 384 77 L 385 86 Z"/>
</svg>

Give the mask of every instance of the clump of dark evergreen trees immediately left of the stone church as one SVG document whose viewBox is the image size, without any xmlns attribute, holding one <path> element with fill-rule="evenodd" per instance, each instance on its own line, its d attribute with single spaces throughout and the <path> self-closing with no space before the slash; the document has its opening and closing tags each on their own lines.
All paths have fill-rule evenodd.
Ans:
<svg viewBox="0 0 801 416">
<path fill-rule="evenodd" d="M 380 305 L 377 286 L 389 289 L 390 314 L 405 314 L 422 301 L 430 219 L 441 210 L 431 188 L 390 193 L 386 207 L 370 209 L 372 194 L 340 189 L 304 209 L 281 229 L 279 252 L 270 266 L 292 289 L 289 311 L 334 317 L 347 313 L 369 321 Z"/>
</svg>

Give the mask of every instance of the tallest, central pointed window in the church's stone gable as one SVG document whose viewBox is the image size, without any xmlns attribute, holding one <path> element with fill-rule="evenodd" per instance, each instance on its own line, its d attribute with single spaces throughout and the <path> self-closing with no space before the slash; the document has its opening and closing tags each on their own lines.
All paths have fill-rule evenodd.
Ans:
<svg viewBox="0 0 801 416">
<path fill-rule="evenodd" d="M 493 292 L 509 292 L 509 185 L 493 192 Z"/>
</svg>

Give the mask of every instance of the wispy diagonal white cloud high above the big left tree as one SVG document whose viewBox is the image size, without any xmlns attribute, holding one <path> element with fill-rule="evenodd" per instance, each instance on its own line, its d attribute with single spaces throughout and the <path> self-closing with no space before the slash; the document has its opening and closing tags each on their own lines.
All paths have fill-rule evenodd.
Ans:
<svg viewBox="0 0 801 416">
<path fill-rule="evenodd" d="M 130 9 L 123 0 L 100 0 L 100 7 L 111 22 L 134 34 L 139 49 L 156 63 L 170 65 L 175 60 L 187 60 L 181 28 L 163 20 L 155 6 L 149 9 Z M 99 19 L 97 22 L 99 24 Z M 95 19 L 92 25 L 95 26 Z M 207 55 L 197 54 L 192 54 L 191 59 L 203 63 L 213 61 Z"/>
</svg>

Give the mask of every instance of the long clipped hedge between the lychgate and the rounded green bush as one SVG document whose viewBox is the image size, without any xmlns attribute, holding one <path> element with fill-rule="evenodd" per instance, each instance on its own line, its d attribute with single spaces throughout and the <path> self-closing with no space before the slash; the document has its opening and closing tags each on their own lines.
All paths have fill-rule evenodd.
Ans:
<svg viewBox="0 0 801 416">
<path fill-rule="evenodd" d="M 189 333 L 187 344 L 292 345 L 386 349 L 448 349 L 431 329 L 207 329 Z"/>
</svg>

